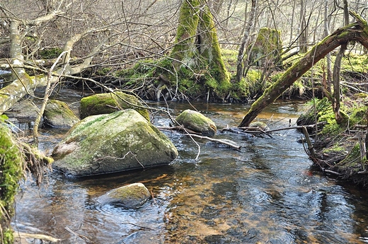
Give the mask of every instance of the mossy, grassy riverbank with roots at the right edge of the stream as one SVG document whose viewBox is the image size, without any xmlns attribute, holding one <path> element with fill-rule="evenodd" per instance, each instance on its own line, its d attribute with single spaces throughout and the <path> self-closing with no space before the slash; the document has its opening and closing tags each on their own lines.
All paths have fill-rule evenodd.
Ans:
<svg viewBox="0 0 368 244">
<path fill-rule="evenodd" d="M 365 93 L 344 98 L 342 113 L 346 120 L 338 124 L 327 98 L 309 103 L 298 119 L 299 125 L 320 124 L 309 130 L 314 138 L 307 152 L 314 166 L 326 175 L 347 180 L 367 190 L 367 103 Z"/>
</svg>

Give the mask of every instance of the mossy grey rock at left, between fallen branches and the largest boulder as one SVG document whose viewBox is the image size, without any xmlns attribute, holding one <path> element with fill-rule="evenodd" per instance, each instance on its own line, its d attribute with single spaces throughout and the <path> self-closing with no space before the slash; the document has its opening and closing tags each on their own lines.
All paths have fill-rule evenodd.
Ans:
<svg viewBox="0 0 368 244">
<path fill-rule="evenodd" d="M 45 126 L 70 129 L 77 122 L 79 122 L 79 117 L 74 114 L 67 103 L 59 100 L 50 100 L 47 103 L 45 112 L 43 113 L 43 123 Z"/>
</svg>

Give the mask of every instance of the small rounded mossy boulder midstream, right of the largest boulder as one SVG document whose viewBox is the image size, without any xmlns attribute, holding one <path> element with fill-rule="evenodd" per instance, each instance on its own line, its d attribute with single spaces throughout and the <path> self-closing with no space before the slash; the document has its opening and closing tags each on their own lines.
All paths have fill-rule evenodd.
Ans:
<svg viewBox="0 0 368 244">
<path fill-rule="evenodd" d="M 176 122 L 197 133 L 214 135 L 217 132 L 216 124 L 212 120 L 194 110 L 184 110 L 176 117 Z"/>
</svg>

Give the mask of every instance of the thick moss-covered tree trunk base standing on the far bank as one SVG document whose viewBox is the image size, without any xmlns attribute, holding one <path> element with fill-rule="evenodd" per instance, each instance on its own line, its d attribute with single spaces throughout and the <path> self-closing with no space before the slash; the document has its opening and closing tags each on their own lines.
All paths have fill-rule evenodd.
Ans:
<svg viewBox="0 0 368 244">
<path fill-rule="evenodd" d="M 171 51 L 176 70 L 189 69 L 217 95 L 224 92 L 230 76 L 222 59 L 212 14 L 204 0 L 183 0 L 176 44 Z M 193 74 L 191 74 L 193 75 Z M 180 81 L 179 81 L 180 82 Z"/>
</svg>

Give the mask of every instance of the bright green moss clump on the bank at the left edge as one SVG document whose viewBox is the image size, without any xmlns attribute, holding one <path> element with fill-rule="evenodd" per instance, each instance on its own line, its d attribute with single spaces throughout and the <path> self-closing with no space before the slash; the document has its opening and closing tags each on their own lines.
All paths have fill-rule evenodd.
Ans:
<svg viewBox="0 0 368 244">
<path fill-rule="evenodd" d="M 0 122 L 0 223 L 1 243 L 13 243 L 9 216 L 13 216 L 18 181 L 22 178 L 23 158 L 4 122 Z"/>
</svg>

